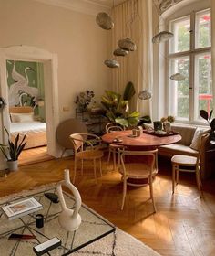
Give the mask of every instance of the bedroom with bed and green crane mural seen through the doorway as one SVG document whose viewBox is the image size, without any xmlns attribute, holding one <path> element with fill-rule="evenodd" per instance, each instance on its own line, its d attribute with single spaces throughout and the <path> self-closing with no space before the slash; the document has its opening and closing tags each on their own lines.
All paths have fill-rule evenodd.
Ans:
<svg viewBox="0 0 215 256">
<path fill-rule="evenodd" d="M 6 59 L 6 71 L 11 138 L 14 140 L 18 133 L 20 139 L 26 135 L 26 148 L 19 160 L 29 164 L 49 159 L 46 154 L 44 65 L 36 61 Z"/>
</svg>

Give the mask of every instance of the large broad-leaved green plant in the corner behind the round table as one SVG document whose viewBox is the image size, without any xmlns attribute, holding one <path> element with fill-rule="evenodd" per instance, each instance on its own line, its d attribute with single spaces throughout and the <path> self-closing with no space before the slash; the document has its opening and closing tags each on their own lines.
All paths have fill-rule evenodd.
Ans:
<svg viewBox="0 0 215 256">
<path fill-rule="evenodd" d="M 129 112 L 128 101 L 134 96 L 135 89 L 132 82 L 128 82 L 123 97 L 114 91 L 106 91 L 101 97 L 101 103 L 105 107 L 107 118 L 122 126 L 135 126 L 138 123 L 139 112 Z"/>
</svg>

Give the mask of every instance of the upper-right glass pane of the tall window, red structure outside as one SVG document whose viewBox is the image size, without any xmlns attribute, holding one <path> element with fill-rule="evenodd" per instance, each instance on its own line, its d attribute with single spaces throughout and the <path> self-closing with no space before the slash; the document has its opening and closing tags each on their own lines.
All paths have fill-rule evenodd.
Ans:
<svg viewBox="0 0 215 256">
<path fill-rule="evenodd" d="M 210 47 L 210 10 L 196 14 L 196 48 Z"/>
</svg>

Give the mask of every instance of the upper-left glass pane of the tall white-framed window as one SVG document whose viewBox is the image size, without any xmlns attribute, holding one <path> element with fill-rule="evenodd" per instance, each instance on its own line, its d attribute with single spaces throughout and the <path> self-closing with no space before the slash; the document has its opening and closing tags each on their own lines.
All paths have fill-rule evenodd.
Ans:
<svg viewBox="0 0 215 256">
<path fill-rule="evenodd" d="M 189 30 L 190 18 L 189 16 L 179 18 L 170 23 L 171 31 L 174 37 L 170 39 L 170 52 L 181 52 L 189 50 Z"/>
</svg>

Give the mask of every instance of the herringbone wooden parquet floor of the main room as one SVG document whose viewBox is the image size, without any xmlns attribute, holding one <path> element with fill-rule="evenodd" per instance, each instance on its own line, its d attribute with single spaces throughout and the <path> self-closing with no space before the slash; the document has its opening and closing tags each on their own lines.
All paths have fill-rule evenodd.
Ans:
<svg viewBox="0 0 215 256">
<path fill-rule="evenodd" d="M 61 180 L 65 168 L 72 174 L 73 164 L 72 158 L 67 157 L 20 166 L 18 171 L 0 178 L 0 197 Z M 103 176 L 97 183 L 93 166 L 87 164 L 83 176 L 77 172 L 76 186 L 87 206 L 161 255 L 215 255 L 214 178 L 203 182 L 204 198 L 200 199 L 195 177 L 181 174 L 173 196 L 169 162 L 159 159 L 159 175 L 153 184 L 156 214 L 152 214 L 152 204 L 148 201 L 148 187 L 128 187 L 124 210 L 120 210 L 120 176 L 105 160 Z"/>
</svg>

